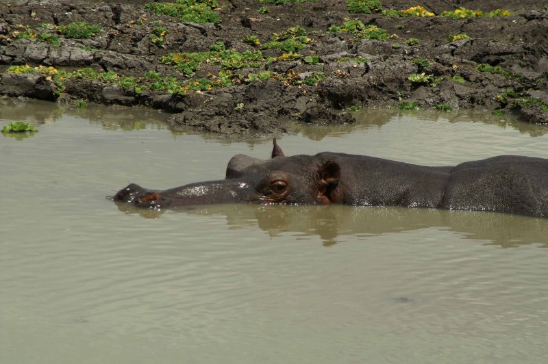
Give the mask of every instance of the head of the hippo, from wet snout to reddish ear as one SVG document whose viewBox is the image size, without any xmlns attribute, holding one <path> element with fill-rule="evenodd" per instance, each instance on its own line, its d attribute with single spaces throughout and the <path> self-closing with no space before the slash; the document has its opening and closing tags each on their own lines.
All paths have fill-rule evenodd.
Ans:
<svg viewBox="0 0 548 364">
<path fill-rule="evenodd" d="M 310 155 L 286 157 L 274 139 L 271 159 L 235 155 L 223 180 L 164 191 L 132 183 L 114 200 L 149 209 L 214 203 L 327 204 L 338 200 L 339 179 L 336 161 Z"/>
</svg>

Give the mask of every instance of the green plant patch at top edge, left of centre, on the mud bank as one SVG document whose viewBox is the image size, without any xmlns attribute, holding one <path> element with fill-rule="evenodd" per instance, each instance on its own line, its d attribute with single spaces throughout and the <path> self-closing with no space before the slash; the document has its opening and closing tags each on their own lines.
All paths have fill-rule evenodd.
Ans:
<svg viewBox="0 0 548 364">
<path fill-rule="evenodd" d="M 168 16 L 179 17 L 181 22 L 220 23 L 221 17 L 215 12 L 219 9 L 216 0 L 177 0 L 173 3 L 147 3 L 145 8 Z"/>
</svg>

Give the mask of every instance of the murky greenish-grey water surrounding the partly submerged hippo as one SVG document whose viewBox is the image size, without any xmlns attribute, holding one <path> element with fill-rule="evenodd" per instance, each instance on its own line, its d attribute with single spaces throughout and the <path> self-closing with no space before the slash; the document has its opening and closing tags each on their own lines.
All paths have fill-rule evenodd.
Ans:
<svg viewBox="0 0 548 364">
<path fill-rule="evenodd" d="M 368 112 L 296 126 L 288 155 L 428 165 L 548 157 L 547 128 Z M 226 142 L 147 110 L 1 101 L 1 363 L 543 363 L 547 221 L 386 207 L 221 205 L 161 215 L 105 196 L 223 177 Z"/>
</svg>

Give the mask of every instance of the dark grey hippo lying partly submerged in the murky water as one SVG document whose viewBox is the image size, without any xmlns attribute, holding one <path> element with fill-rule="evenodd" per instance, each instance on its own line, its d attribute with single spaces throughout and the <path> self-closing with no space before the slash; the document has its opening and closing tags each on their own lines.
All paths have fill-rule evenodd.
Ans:
<svg viewBox="0 0 548 364">
<path fill-rule="evenodd" d="M 501 155 L 429 167 L 330 152 L 286 157 L 274 139 L 271 159 L 235 155 L 223 180 L 164 191 L 132 183 L 114 200 L 147 209 L 214 203 L 338 203 L 548 217 L 548 159 Z"/>
</svg>

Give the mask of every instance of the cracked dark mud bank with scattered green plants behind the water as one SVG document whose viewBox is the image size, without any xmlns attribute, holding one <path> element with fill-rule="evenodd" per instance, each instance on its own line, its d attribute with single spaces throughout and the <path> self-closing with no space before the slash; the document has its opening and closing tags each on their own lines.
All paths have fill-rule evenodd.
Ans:
<svg viewBox="0 0 548 364">
<path fill-rule="evenodd" d="M 479 108 L 548 125 L 544 0 L 382 0 L 371 14 L 350 13 L 344 0 L 219 0 L 220 22 L 203 24 L 147 3 L 1 1 L 0 94 L 164 109 L 177 124 L 225 135 L 280 133 L 295 119 L 354 122 L 362 107 Z M 436 16 L 382 12 L 416 5 Z M 440 16 L 458 7 L 511 14 Z M 355 20 L 385 39 L 345 29 Z M 80 21 L 101 29 L 88 38 L 59 30 Z M 466 36 L 449 39 L 457 34 Z"/>
</svg>

